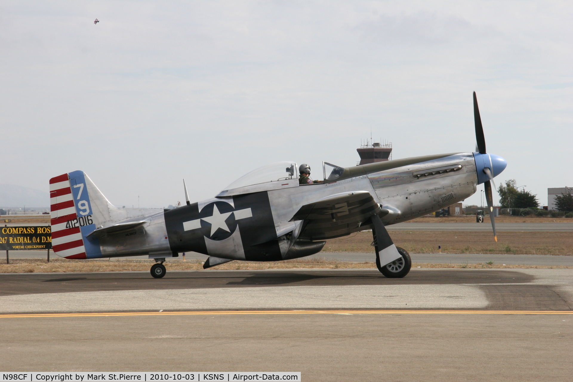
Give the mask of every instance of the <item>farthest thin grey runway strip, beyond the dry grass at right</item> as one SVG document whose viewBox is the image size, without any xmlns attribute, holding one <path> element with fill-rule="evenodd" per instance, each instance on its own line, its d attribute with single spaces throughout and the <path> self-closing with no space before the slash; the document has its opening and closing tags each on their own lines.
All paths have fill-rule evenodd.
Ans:
<svg viewBox="0 0 573 382">
<path fill-rule="evenodd" d="M 388 231 L 491 231 L 484 223 L 398 223 L 386 226 Z M 558 223 L 496 223 L 497 231 L 556 231 L 573 232 L 573 222 Z"/>
</svg>

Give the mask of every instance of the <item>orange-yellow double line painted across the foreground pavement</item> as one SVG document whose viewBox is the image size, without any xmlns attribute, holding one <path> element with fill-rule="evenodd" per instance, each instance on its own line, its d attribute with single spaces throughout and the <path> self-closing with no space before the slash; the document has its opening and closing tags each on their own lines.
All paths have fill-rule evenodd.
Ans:
<svg viewBox="0 0 573 382">
<path fill-rule="evenodd" d="M 189 312 L 21 313 L 0 314 L 0 318 L 215 316 L 229 314 L 573 314 L 573 310 L 197 310 Z"/>
</svg>

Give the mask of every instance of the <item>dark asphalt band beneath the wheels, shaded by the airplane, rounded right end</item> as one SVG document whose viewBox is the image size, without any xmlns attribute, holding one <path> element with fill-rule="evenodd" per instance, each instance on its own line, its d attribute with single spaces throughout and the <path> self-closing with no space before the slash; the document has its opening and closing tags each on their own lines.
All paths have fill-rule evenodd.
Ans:
<svg viewBox="0 0 573 382">
<path fill-rule="evenodd" d="M 4 274 L 0 296 L 108 290 L 253 288 L 265 286 L 428 285 L 529 283 L 535 277 L 514 270 L 413 269 L 405 278 L 386 278 L 378 270 L 171 271 L 162 279 L 141 273 Z"/>
</svg>

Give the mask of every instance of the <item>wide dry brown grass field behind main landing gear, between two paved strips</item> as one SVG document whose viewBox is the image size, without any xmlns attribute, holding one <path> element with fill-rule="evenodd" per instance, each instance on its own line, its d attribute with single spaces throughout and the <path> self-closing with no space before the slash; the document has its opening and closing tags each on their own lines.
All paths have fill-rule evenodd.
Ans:
<svg viewBox="0 0 573 382">
<path fill-rule="evenodd" d="M 570 232 L 391 231 L 394 243 L 410 253 L 497 253 L 573 255 Z M 324 252 L 373 253 L 371 232 L 328 240 Z"/>
</svg>

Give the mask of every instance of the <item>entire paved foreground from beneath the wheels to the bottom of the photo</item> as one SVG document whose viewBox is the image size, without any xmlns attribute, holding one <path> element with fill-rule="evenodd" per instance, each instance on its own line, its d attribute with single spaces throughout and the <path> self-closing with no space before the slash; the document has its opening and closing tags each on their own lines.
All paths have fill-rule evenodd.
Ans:
<svg viewBox="0 0 573 382">
<path fill-rule="evenodd" d="M 571 314 L 409 314 L 405 304 L 571 312 L 572 276 L 571 269 L 413 269 L 403 279 L 364 269 L 182 271 L 163 279 L 143 272 L 0 274 L 3 309 L 18 298 L 60 310 L 74 301 L 93 310 L 147 304 L 158 311 L 161 303 L 238 307 L 248 301 L 261 304 L 252 309 L 368 302 L 366 309 L 401 309 L 0 318 L 2 369 L 301 371 L 304 381 L 567 381 L 573 372 Z M 36 300 L 26 300 L 30 296 Z"/>
</svg>

